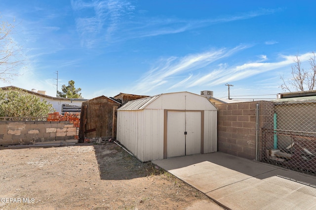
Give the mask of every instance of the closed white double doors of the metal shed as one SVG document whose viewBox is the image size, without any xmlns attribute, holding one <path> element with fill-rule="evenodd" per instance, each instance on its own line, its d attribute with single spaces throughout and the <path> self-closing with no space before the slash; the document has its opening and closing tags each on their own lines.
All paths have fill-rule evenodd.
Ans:
<svg viewBox="0 0 316 210">
<path fill-rule="evenodd" d="M 201 153 L 201 112 L 167 112 L 167 157 Z"/>
</svg>

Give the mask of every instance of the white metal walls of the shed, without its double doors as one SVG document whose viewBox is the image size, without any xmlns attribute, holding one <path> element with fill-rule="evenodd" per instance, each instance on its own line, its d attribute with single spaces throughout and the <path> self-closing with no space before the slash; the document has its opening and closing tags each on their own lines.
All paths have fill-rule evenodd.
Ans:
<svg viewBox="0 0 316 210">
<path fill-rule="evenodd" d="M 217 151 L 217 109 L 190 92 L 162 94 L 141 110 L 118 110 L 118 141 L 143 162 L 163 159 L 164 110 L 204 110 L 204 153 Z"/>
</svg>

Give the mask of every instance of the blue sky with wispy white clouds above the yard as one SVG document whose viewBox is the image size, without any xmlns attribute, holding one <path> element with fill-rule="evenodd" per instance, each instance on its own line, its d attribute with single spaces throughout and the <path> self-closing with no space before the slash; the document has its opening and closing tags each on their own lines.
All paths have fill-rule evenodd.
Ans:
<svg viewBox="0 0 316 210">
<path fill-rule="evenodd" d="M 28 60 L 0 86 L 55 96 L 58 71 L 59 90 L 74 80 L 88 99 L 201 90 L 227 98 L 227 83 L 233 98 L 274 98 L 295 55 L 308 68 L 315 8 L 314 0 L 0 0 Z"/>
</svg>

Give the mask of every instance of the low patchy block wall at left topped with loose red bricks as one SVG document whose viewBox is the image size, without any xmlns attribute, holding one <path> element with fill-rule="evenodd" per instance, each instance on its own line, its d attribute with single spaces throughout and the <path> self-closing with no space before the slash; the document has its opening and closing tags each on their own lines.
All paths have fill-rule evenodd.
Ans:
<svg viewBox="0 0 316 210">
<path fill-rule="evenodd" d="M 47 121 L 0 121 L 0 147 L 79 139 L 78 116 L 67 119 L 59 113 L 52 115 Z"/>
</svg>

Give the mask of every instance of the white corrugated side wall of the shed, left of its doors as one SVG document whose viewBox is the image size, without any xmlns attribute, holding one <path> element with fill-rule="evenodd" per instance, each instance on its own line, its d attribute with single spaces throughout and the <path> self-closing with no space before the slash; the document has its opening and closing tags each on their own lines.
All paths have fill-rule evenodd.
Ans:
<svg viewBox="0 0 316 210">
<path fill-rule="evenodd" d="M 163 110 L 120 111 L 117 139 L 143 162 L 163 159 Z"/>
</svg>

